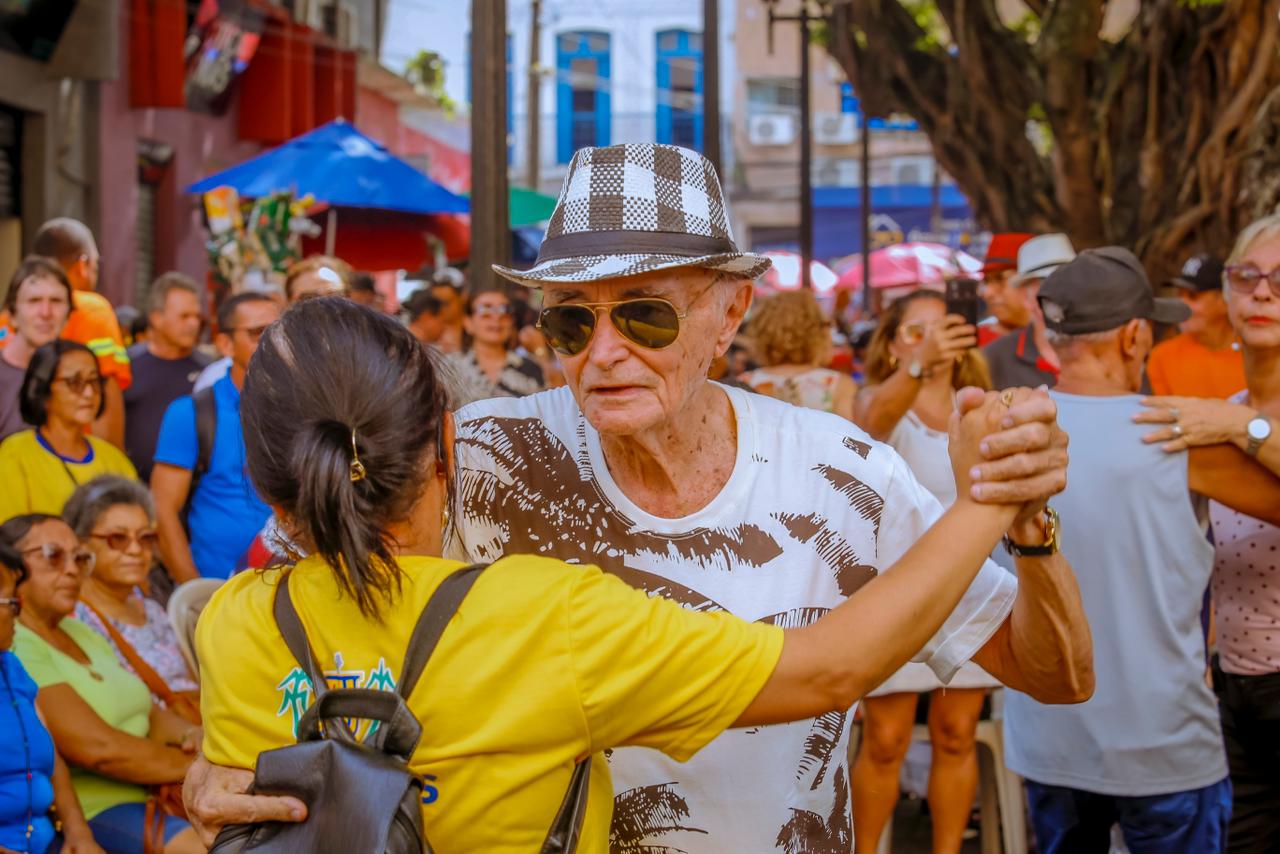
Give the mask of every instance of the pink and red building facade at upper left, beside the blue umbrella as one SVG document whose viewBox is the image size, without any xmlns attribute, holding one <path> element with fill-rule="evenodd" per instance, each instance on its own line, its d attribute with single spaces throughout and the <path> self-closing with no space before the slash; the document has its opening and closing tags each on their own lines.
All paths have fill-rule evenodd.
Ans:
<svg viewBox="0 0 1280 854">
<path fill-rule="evenodd" d="M 0 287 L 56 215 L 83 220 L 99 289 L 138 303 L 159 273 L 209 269 L 184 188 L 335 118 L 387 0 L 77 0 L 33 4 L 42 38 L 0 33 Z"/>
</svg>

